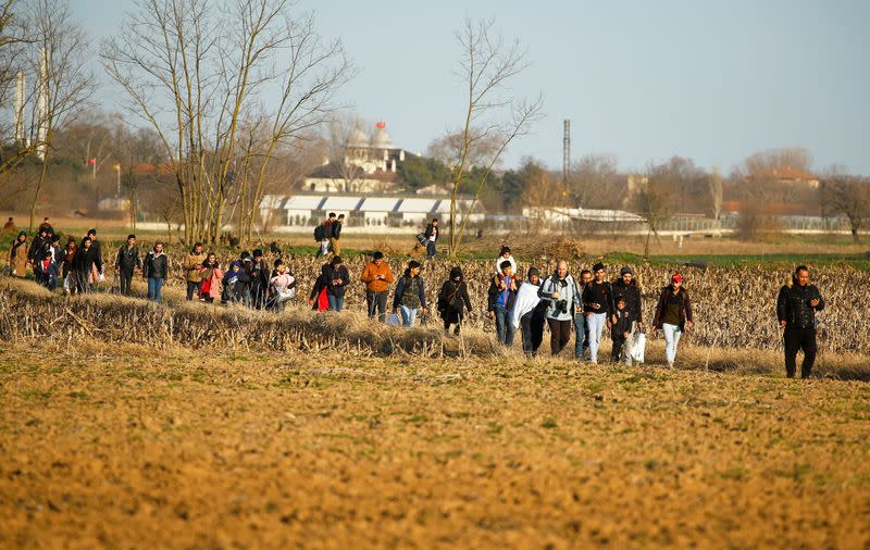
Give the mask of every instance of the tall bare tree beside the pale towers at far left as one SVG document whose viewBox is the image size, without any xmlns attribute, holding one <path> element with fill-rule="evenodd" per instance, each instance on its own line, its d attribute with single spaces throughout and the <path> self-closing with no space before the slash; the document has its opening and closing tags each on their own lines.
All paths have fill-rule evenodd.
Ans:
<svg viewBox="0 0 870 550">
<path fill-rule="evenodd" d="M 61 0 L 34 0 L 29 17 L 32 74 L 37 75 L 33 141 L 42 161 L 30 203 L 30 230 L 39 192 L 48 173 L 58 128 L 75 120 L 95 89 L 88 70 L 88 41 L 84 29 L 73 21 L 70 7 Z"/>
</svg>

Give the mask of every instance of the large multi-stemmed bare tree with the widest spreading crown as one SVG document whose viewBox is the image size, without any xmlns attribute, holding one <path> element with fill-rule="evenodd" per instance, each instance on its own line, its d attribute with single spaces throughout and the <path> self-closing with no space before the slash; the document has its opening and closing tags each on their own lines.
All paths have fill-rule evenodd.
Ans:
<svg viewBox="0 0 870 550">
<path fill-rule="evenodd" d="M 216 241 L 227 199 L 243 184 L 246 197 L 253 189 L 243 207 L 252 218 L 275 151 L 328 120 L 352 73 L 340 42 L 324 43 L 312 17 L 293 8 L 289 0 L 138 0 L 102 45 L 127 107 L 163 143 L 185 241 Z M 275 90 L 278 100 L 266 101 Z M 246 129 L 258 127 L 264 137 L 243 147 Z M 252 155 L 262 161 L 253 175 Z"/>
</svg>

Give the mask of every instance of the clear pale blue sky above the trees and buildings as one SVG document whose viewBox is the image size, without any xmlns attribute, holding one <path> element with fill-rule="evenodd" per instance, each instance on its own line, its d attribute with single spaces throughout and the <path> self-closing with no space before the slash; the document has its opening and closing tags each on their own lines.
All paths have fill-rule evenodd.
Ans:
<svg viewBox="0 0 870 550">
<path fill-rule="evenodd" d="M 70 0 L 95 42 L 133 0 Z M 412 152 L 460 126 L 455 38 L 468 16 L 494 18 L 527 50 L 514 97 L 544 95 L 546 117 L 504 165 L 533 157 L 616 157 L 625 171 L 673 155 L 729 173 L 766 149 L 804 147 L 813 167 L 870 175 L 870 1 L 866 0 L 299 0 L 358 74 L 341 100 L 387 123 Z M 98 71 L 101 73 L 101 71 Z M 107 98 L 117 91 L 105 80 Z M 111 109 L 111 99 L 105 109 Z"/>
</svg>

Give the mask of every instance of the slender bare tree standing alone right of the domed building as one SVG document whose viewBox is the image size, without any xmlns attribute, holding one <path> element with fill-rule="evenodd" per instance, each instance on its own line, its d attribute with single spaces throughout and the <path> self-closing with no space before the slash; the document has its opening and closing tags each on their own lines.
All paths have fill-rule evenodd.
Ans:
<svg viewBox="0 0 870 550">
<path fill-rule="evenodd" d="M 455 257 L 462 243 L 465 225 L 481 198 L 486 180 L 511 141 L 529 134 L 540 118 L 543 97 L 532 102 L 502 97 L 506 85 L 519 77 L 527 67 L 525 52 L 518 39 L 506 41 L 495 29 L 495 23 L 465 20 L 456 34 L 462 49 L 458 75 L 467 87 L 465 110 L 458 148 L 450 163 L 453 187 L 450 193 L 449 252 Z M 494 140 L 495 150 L 478 166 L 480 175 L 469 180 L 472 153 L 477 145 Z M 463 212 L 459 211 L 460 189 L 468 187 L 473 198 Z M 461 214 L 461 223 L 459 217 Z"/>
</svg>

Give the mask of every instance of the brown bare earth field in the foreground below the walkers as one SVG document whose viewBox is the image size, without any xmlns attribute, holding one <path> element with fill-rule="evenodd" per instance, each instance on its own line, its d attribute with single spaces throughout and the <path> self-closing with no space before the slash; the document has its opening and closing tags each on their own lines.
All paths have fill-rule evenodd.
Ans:
<svg viewBox="0 0 870 550">
<path fill-rule="evenodd" d="M 0 547 L 868 548 L 870 385 L 729 353 L 0 341 Z"/>
</svg>

